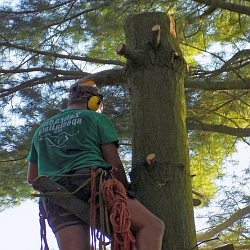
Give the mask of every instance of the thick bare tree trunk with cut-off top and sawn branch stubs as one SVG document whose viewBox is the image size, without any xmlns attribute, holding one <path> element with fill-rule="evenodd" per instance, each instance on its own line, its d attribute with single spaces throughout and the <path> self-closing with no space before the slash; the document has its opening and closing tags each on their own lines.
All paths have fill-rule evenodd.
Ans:
<svg viewBox="0 0 250 250">
<path fill-rule="evenodd" d="M 163 249 L 197 249 L 185 125 L 186 63 L 173 19 L 165 13 L 132 16 L 125 34 L 132 187 L 140 202 L 165 222 Z M 155 161 L 147 162 L 151 153 Z"/>
</svg>

